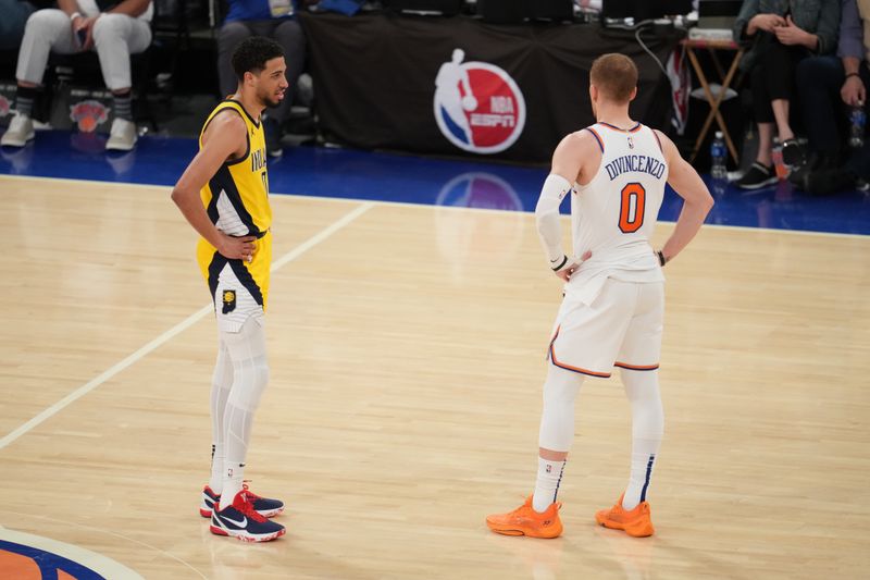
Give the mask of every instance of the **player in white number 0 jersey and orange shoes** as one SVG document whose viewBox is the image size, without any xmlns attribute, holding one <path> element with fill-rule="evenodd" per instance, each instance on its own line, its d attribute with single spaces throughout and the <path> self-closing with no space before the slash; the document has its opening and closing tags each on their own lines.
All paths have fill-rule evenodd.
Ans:
<svg viewBox="0 0 870 580">
<path fill-rule="evenodd" d="M 658 131 L 629 115 L 637 67 L 622 54 L 598 58 L 589 72 L 595 125 L 568 135 L 552 156 L 535 217 L 550 268 L 566 282 L 549 347 L 535 491 L 508 514 L 488 516 L 507 535 L 562 533 L 556 502 L 574 439 L 574 399 L 586 377 L 620 369 L 632 406 L 631 476 L 601 526 L 629 535 L 654 533 L 646 501 L 663 433 L 658 368 L 664 307 L 661 267 L 700 229 L 713 205 L 697 172 Z M 683 200 L 673 234 L 660 250 L 650 238 L 666 182 Z M 571 195 L 573 252 L 562 251 L 559 206 Z"/>
</svg>

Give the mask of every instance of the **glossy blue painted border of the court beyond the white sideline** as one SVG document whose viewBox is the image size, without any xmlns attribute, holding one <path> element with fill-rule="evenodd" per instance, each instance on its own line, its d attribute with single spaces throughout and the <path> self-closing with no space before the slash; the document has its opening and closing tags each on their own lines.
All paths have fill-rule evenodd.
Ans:
<svg viewBox="0 0 870 580">
<path fill-rule="evenodd" d="M 107 153 L 104 143 L 104 135 L 39 132 L 22 149 L 0 149 L 0 174 L 173 185 L 197 150 L 194 139 L 146 136 L 117 155 Z M 534 210 L 546 174 L 546 168 L 323 147 L 287 148 L 269 161 L 274 193 L 513 211 Z M 787 183 L 711 192 L 709 223 L 870 235 L 870 195 L 862 192 L 816 198 Z M 676 220 L 680 208 L 669 192 L 661 219 Z"/>
</svg>

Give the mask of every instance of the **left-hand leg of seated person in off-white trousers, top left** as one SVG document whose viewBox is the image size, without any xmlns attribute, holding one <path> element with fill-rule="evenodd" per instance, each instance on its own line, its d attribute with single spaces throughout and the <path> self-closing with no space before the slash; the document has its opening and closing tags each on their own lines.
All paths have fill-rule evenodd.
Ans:
<svg viewBox="0 0 870 580">
<path fill-rule="evenodd" d="M 0 145 L 24 147 L 34 138 L 34 123 L 30 115 L 37 88 L 42 84 L 49 54 L 52 51 L 71 54 L 77 49 L 72 23 L 62 10 L 38 10 L 27 18 L 15 70 L 18 82 L 15 94 L 15 116 L 0 139 Z"/>
</svg>

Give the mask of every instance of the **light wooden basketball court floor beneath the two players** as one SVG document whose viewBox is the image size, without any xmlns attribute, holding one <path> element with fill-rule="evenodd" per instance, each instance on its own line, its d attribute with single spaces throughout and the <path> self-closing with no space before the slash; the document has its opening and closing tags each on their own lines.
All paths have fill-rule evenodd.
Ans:
<svg viewBox="0 0 870 580">
<path fill-rule="evenodd" d="M 703 230 L 666 269 L 657 535 L 593 519 L 629 474 L 617 375 L 584 384 L 566 533 L 542 541 L 484 525 L 534 485 L 560 300 L 534 218 L 274 196 L 246 477 L 287 502 L 287 534 L 247 545 L 197 513 L 216 330 L 169 188 L 0 190 L 0 539 L 161 579 L 867 573 L 870 237 Z"/>
</svg>

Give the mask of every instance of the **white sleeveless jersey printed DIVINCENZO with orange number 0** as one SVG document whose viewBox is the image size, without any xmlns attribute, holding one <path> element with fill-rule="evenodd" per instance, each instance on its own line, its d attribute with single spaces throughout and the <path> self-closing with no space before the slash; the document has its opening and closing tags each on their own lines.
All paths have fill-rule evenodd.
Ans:
<svg viewBox="0 0 870 580">
<path fill-rule="evenodd" d="M 629 131 L 607 123 L 583 131 L 601 148 L 601 164 L 588 184 L 574 185 L 571 234 L 574 256 L 592 251 L 592 258 L 566 289 L 591 301 L 608 277 L 664 280 L 649 239 L 664 198 L 668 163 L 658 135 L 641 123 Z"/>
</svg>

